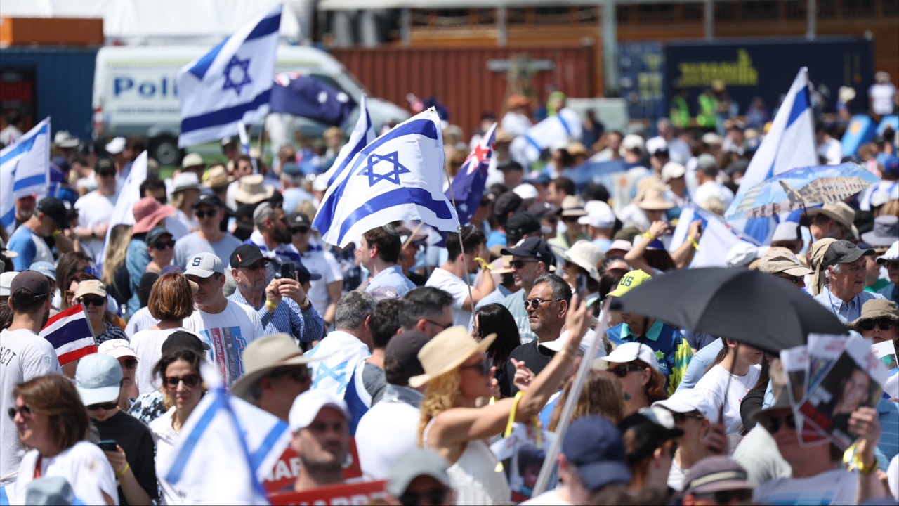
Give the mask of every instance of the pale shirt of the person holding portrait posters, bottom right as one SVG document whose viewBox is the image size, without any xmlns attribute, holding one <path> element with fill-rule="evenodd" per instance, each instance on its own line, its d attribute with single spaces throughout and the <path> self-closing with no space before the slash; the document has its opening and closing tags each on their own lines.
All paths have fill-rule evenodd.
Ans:
<svg viewBox="0 0 899 506">
<path fill-rule="evenodd" d="M 792 504 L 855 504 L 859 475 L 834 469 L 810 478 L 780 478 L 761 483 L 752 501 L 772 506 Z"/>
</svg>

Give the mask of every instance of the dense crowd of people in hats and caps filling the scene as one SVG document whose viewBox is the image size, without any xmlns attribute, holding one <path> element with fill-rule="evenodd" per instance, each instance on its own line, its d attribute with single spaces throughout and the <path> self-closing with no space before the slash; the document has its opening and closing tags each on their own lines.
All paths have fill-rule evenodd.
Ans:
<svg viewBox="0 0 899 506">
<path fill-rule="evenodd" d="M 565 106 L 552 98 L 549 113 Z M 508 105 L 470 223 L 445 237 L 384 223 L 347 248 L 312 229 L 327 157 L 313 163 L 291 142 L 267 164 L 228 138 L 221 161 L 190 153 L 165 179 L 151 161 L 134 223 L 110 226 L 140 140 L 113 139 L 97 157 L 59 132 L 64 184 L 17 199 L 0 238 L 10 503 L 190 501 L 165 473 L 206 392 L 204 363 L 289 424 L 300 464 L 287 491 L 348 483 L 354 439 L 352 466 L 386 481 L 375 501 L 388 504 L 899 501 L 899 399 L 846 410 L 847 468 L 826 440 L 800 444 L 777 354 L 608 304 L 690 267 L 704 230 L 691 221 L 669 248 L 681 211 L 722 215 L 764 130 L 729 119 L 721 136 L 663 119 L 657 135 L 594 131 L 589 147 L 560 143 L 530 166 L 510 152 L 528 102 Z M 458 130 L 444 135 L 448 153 L 483 134 L 466 143 Z M 340 139 L 328 139 L 335 153 Z M 820 129 L 823 163 L 857 156 L 829 139 Z M 893 138 L 864 148 L 881 183 L 721 263 L 814 297 L 847 339 L 899 347 L 899 158 Z M 448 159 L 450 173 L 464 160 Z M 567 176 L 612 159 L 626 164 L 622 188 Z M 60 365 L 40 330 L 79 304 L 98 351 Z M 497 453 L 512 427 L 562 439 L 546 492 L 533 491 L 541 460 Z"/>
</svg>

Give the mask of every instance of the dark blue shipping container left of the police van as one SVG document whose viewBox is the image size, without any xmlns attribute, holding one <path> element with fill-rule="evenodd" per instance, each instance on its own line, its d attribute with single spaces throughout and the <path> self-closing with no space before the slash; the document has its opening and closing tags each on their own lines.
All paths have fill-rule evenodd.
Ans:
<svg viewBox="0 0 899 506">
<path fill-rule="evenodd" d="M 22 113 L 22 131 L 50 116 L 52 132 L 91 138 L 93 67 L 99 48 L 0 50 L 0 113 Z"/>
</svg>

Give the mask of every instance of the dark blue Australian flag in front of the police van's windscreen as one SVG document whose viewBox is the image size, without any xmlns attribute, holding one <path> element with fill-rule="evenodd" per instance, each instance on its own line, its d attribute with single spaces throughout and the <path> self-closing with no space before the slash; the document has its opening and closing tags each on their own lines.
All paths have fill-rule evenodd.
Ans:
<svg viewBox="0 0 899 506">
<path fill-rule="evenodd" d="M 288 113 L 340 126 L 355 106 L 356 103 L 342 91 L 298 72 L 278 74 L 271 86 L 271 113 Z"/>
</svg>

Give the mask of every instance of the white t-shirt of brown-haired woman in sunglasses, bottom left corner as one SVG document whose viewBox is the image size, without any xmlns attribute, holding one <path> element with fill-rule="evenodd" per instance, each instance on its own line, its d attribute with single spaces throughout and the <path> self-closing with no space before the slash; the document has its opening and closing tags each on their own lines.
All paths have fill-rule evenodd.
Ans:
<svg viewBox="0 0 899 506">
<path fill-rule="evenodd" d="M 25 487 L 34 481 L 38 456 L 38 450 L 32 449 L 22 457 L 22 466 L 19 468 L 10 503 L 25 503 Z M 115 472 L 102 449 L 88 441 L 78 441 L 56 456 L 41 458 L 40 477 L 46 476 L 66 478 L 72 485 L 75 497 L 85 504 L 106 504 L 103 492 L 111 497 L 114 504 L 119 504 Z"/>
</svg>

